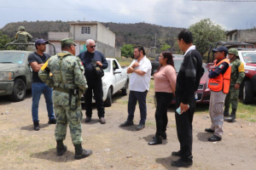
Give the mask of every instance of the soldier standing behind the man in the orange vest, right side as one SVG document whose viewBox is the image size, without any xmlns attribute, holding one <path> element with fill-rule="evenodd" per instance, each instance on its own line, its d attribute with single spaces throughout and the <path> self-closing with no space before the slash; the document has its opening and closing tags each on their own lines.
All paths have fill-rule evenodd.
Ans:
<svg viewBox="0 0 256 170">
<path fill-rule="evenodd" d="M 230 78 L 230 92 L 227 94 L 225 99 L 224 117 L 225 122 L 235 122 L 237 99 L 239 95 L 240 84 L 245 76 L 244 65 L 238 57 L 238 51 L 236 48 L 230 48 L 229 59 L 231 64 L 231 78 Z M 232 105 L 232 112 L 230 116 L 230 103 Z"/>
</svg>

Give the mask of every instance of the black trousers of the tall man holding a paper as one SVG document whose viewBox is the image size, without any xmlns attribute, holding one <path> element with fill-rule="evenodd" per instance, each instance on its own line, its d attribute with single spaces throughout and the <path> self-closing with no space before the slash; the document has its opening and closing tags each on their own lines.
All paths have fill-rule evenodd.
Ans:
<svg viewBox="0 0 256 170">
<path fill-rule="evenodd" d="M 192 122 L 195 112 L 195 96 L 189 96 L 189 110 L 183 114 L 177 114 L 177 108 L 182 100 L 182 96 L 177 95 L 175 107 L 175 119 L 177 127 L 177 139 L 180 144 L 181 158 L 184 161 L 192 161 Z"/>
</svg>

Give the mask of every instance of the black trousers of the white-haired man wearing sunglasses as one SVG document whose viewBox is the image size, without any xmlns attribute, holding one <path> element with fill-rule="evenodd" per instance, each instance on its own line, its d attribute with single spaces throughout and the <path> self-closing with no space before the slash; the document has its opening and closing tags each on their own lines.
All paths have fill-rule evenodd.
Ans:
<svg viewBox="0 0 256 170">
<path fill-rule="evenodd" d="M 105 116 L 105 108 L 103 104 L 103 90 L 102 90 L 102 79 L 96 80 L 96 81 L 88 81 L 88 88 L 84 94 L 84 102 L 85 102 L 85 110 L 86 116 L 92 115 L 92 108 L 91 108 L 91 99 L 92 99 L 92 91 L 94 94 L 94 99 L 96 100 L 96 107 L 98 111 L 99 117 Z"/>
</svg>

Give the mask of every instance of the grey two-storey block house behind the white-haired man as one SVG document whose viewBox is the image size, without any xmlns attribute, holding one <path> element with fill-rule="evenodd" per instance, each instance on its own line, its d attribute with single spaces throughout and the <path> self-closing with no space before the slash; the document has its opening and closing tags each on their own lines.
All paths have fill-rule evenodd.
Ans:
<svg viewBox="0 0 256 170">
<path fill-rule="evenodd" d="M 69 32 L 48 32 L 48 38 L 55 45 L 56 52 L 61 51 L 60 40 L 73 37 L 76 44 L 76 55 L 87 50 L 85 41 L 93 39 L 96 42 L 96 50 L 102 52 L 105 57 L 120 57 L 121 50 L 115 48 L 115 34 L 107 27 L 96 21 L 79 21 L 69 23 Z M 49 54 L 53 54 L 53 48 L 49 47 Z"/>
</svg>

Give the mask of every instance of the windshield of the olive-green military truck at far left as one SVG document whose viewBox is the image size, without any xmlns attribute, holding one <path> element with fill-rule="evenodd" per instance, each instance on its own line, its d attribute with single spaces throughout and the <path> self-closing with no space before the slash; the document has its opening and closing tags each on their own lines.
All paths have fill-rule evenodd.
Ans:
<svg viewBox="0 0 256 170">
<path fill-rule="evenodd" d="M 0 63 L 12 63 L 22 65 L 26 59 L 25 53 L 19 52 L 0 52 Z"/>
</svg>

